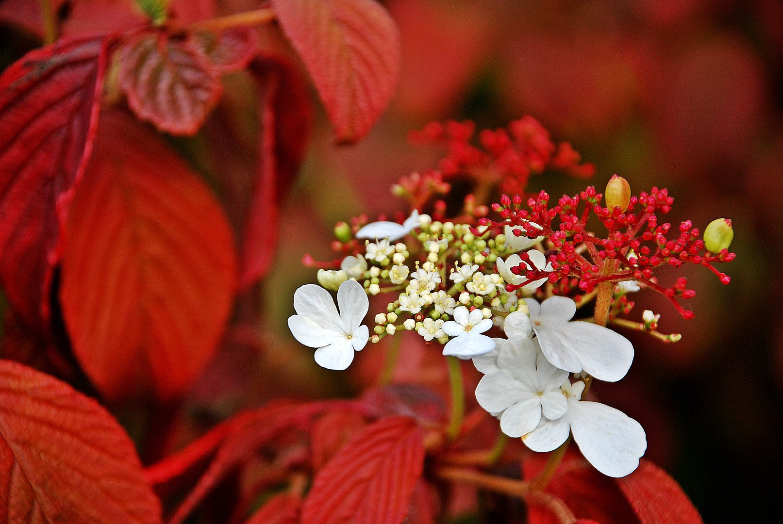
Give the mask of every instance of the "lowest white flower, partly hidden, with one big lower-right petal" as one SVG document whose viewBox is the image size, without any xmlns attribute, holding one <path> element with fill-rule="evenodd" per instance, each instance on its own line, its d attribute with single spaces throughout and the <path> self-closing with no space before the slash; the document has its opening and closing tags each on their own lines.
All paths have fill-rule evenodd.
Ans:
<svg viewBox="0 0 783 524">
<path fill-rule="evenodd" d="M 614 407 L 579 400 L 584 388 L 582 381 L 565 381 L 561 386 L 568 401 L 565 415 L 557 420 L 545 415 L 536 429 L 522 437 L 522 442 L 533 451 L 551 451 L 564 443 L 571 432 L 584 458 L 598 471 L 611 477 L 630 474 L 647 449 L 644 429 Z"/>
</svg>

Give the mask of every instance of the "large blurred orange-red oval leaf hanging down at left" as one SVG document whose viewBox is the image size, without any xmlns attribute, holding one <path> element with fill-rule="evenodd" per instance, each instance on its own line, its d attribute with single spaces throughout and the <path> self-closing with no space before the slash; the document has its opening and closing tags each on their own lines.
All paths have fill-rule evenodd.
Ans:
<svg viewBox="0 0 783 524">
<path fill-rule="evenodd" d="M 182 393 L 217 347 L 235 282 L 233 235 L 209 189 L 153 131 L 102 113 L 60 289 L 74 354 L 99 391 Z"/>
</svg>

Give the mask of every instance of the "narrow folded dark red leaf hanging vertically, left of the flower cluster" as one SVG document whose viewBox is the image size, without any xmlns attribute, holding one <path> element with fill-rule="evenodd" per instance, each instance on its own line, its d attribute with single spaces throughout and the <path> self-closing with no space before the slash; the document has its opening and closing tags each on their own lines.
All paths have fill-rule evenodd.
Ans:
<svg viewBox="0 0 783 524">
<path fill-rule="evenodd" d="M 249 288 L 272 266 L 280 199 L 299 172 L 311 119 L 307 88 L 287 59 L 256 59 L 250 71 L 258 82 L 258 174 L 244 222 L 240 289 Z"/>
</svg>

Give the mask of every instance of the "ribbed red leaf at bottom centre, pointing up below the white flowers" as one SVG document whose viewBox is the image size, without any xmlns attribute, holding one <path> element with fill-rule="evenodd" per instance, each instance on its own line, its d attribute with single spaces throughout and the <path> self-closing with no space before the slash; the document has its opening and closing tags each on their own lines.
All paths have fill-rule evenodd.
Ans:
<svg viewBox="0 0 783 524">
<path fill-rule="evenodd" d="M 383 418 L 316 476 L 302 524 L 400 524 L 424 467 L 423 432 L 413 418 Z"/>
</svg>

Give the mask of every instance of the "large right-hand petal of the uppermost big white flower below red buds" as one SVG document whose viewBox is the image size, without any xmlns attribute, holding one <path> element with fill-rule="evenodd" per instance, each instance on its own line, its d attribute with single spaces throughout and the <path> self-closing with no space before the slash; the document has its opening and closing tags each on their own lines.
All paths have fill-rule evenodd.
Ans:
<svg viewBox="0 0 783 524">
<path fill-rule="evenodd" d="M 591 322 L 568 322 L 562 331 L 572 340 L 582 368 L 596 379 L 615 382 L 631 367 L 633 344 L 618 332 Z"/>
</svg>

